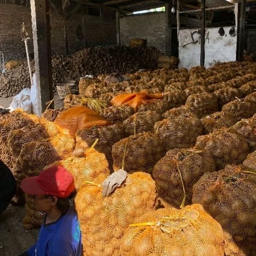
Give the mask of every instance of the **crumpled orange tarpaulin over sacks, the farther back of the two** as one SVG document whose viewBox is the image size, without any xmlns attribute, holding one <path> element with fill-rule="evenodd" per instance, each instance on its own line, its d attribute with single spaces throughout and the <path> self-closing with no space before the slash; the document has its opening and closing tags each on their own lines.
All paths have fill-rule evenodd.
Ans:
<svg viewBox="0 0 256 256">
<path fill-rule="evenodd" d="M 148 94 L 147 92 L 134 92 L 134 93 L 123 93 L 117 96 L 114 96 L 110 101 L 111 105 L 123 105 L 128 104 L 135 111 L 142 103 L 152 103 L 155 100 L 163 99 L 162 93 Z"/>
</svg>

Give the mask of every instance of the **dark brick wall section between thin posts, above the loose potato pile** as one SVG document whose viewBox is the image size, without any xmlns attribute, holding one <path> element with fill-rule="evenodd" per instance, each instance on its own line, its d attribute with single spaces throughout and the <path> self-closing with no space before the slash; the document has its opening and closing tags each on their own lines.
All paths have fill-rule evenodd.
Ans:
<svg viewBox="0 0 256 256">
<path fill-rule="evenodd" d="M 83 16 L 84 41 L 86 47 L 116 45 L 116 20 L 98 16 Z"/>
</svg>

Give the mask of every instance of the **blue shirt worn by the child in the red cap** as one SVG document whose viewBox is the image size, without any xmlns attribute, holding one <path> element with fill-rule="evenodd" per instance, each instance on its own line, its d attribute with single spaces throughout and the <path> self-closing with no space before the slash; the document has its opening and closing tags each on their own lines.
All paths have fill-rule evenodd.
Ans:
<svg viewBox="0 0 256 256">
<path fill-rule="evenodd" d="M 41 226 L 38 240 L 29 256 L 81 256 L 82 237 L 77 212 L 69 209 L 55 222 Z"/>
</svg>

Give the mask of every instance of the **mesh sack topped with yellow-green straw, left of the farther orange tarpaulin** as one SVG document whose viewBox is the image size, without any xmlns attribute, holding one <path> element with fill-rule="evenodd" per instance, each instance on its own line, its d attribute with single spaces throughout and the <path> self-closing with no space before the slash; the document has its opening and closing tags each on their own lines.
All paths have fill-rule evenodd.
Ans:
<svg viewBox="0 0 256 256">
<path fill-rule="evenodd" d="M 85 106 L 96 112 L 99 112 L 102 108 L 108 107 L 108 102 L 101 101 L 95 98 L 88 98 L 85 95 L 69 94 L 64 99 L 64 107 L 72 108 L 77 106 Z"/>
</svg>

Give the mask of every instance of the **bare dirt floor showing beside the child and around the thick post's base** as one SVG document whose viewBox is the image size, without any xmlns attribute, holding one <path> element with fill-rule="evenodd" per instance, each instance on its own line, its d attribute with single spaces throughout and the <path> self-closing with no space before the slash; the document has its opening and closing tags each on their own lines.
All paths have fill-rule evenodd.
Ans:
<svg viewBox="0 0 256 256">
<path fill-rule="evenodd" d="M 0 106 L 8 108 L 13 97 L 0 98 Z M 54 107 L 63 108 L 64 102 L 54 95 Z M 39 229 L 25 230 L 22 219 L 25 216 L 24 206 L 12 206 L 0 214 L 0 256 L 19 256 L 32 246 L 38 236 Z"/>
</svg>

